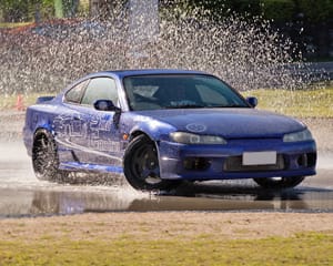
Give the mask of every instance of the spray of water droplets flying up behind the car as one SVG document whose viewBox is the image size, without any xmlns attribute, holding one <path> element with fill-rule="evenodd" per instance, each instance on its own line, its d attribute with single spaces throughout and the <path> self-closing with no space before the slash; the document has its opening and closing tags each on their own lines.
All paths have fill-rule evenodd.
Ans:
<svg viewBox="0 0 333 266">
<path fill-rule="evenodd" d="M 121 4 L 119 4 L 121 6 Z M 240 90 L 296 88 L 293 44 L 268 22 L 230 17 L 215 23 L 201 11 L 163 9 L 159 32 L 138 47 L 123 8 L 109 21 L 53 21 L 0 32 L 0 90 L 4 94 L 59 92 L 94 71 L 135 68 L 193 69 L 214 73 Z"/>
</svg>

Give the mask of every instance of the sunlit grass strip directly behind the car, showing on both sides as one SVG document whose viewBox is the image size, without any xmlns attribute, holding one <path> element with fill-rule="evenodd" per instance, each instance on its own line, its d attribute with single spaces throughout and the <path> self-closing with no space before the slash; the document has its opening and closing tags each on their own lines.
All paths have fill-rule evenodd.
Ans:
<svg viewBox="0 0 333 266">
<path fill-rule="evenodd" d="M 23 95 L 24 106 L 33 104 L 36 99 L 42 95 L 48 95 L 48 93 Z M 243 95 L 256 96 L 259 99 L 258 109 L 296 117 L 333 117 L 333 86 L 296 91 L 261 89 L 245 91 Z M 17 98 L 17 94 L 2 96 L 0 110 L 14 109 Z"/>
</svg>

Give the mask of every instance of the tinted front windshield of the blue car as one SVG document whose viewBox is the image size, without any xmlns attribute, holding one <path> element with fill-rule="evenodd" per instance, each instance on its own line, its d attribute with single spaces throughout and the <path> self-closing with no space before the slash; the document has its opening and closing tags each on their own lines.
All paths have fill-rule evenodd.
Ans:
<svg viewBox="0 0 333 266">
<path fill-rule="evenodd" d="M 233 89 L 204 74 L 135 75 L 124 79 L 131 110 L 249 108 Z"/>
</svg>

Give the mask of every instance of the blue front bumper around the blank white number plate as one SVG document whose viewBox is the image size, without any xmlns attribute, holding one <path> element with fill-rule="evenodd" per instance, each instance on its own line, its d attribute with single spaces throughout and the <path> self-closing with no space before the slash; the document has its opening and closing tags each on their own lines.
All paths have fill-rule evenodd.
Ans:
<svg viewBox="0 0 333 266">
<path fill-rule="evenodd" d="M 275 164 L 243 165 L 244 152 L 276 152 Z M 160 173 L 165 180 L 233 180 L 315 174 L 314 141 L 284 143 L 280 139 L 229 140 L 225 145 L 159 143 Z"/>
</svg>

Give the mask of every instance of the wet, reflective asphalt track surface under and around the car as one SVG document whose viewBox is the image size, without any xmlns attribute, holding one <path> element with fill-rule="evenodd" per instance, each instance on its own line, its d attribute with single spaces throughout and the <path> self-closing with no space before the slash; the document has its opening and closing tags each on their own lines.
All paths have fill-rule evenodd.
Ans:
<svg viewBox="0 0 333 266">
<path fill-rule="evenodd" d="M 320 153 L 317 175 L 293 190 L 266 191 L 251 180 L 183 184 L 170 193 L 142 193 L 122 177 L 41 182 L 20 141 L 0 143 L 0 217 L 85 212 L 333 212 L 333 154 Z"/>
</svg>

